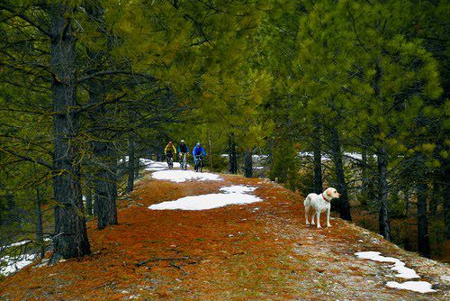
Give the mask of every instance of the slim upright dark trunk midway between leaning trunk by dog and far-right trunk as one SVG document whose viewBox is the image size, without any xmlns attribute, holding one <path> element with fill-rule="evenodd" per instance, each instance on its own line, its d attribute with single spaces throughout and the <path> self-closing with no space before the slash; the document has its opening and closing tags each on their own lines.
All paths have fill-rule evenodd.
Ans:
<svg viewBox="0 0 450 301">
<path fill-rule="evenodd" d="M 379 232 L 384 239 L 391 241 L 391 223 L 388 211 L 388 159 L 386 150 L 378 152 L 378 198 L 380 212 L 378 216 Z"/>
</svg>

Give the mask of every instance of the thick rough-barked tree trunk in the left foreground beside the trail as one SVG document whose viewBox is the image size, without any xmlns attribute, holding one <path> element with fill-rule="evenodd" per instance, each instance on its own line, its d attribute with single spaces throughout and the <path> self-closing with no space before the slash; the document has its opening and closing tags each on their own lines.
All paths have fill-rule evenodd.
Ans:
<svg viewBox="0 0 450 301">
<path fill-rule="evenodd" d="M 51 263 L 90 253 L 80 185 L 80 163 L 76 158 L 78 115 L 71 111 L 71 107 L 76 107 L 76 38 L 70 19 L 73 10 L 74 7 L 66 3 L 55 3 L 50 7 L 50 68 L 54 75 L 51 90 L 55 111 L 53 193 L 56 202 Z"/>
</svg>

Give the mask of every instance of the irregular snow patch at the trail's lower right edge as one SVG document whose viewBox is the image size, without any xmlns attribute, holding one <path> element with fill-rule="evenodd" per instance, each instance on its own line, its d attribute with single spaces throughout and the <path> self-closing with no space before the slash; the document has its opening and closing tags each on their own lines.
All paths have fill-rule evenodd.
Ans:
<svg viewBox="0 0 450 301">
<path fill-rule="evenodd" d="M 420 278 L 420 276 L 414 269 L 406 268 L 403 261 L 393 257 L 384 257 L 380 254 L 381 253 L 379 251 L 360 251 L 355 253 L 355 255 L 361 259 L 393 263 L 391 269 L 397 272 L 397 274 L 394 275 L 395 277 L 409 279 Z M 397 281 L 389 281 L 388 283 L 386 283 L 386 286 L 400 289 L 409 289 L 419 293 L 436 292 L 436 290 L 431 288 L 431 284 L 427 281 L 407 281 L 403 283 L 399 283 Z"/>
</svg>

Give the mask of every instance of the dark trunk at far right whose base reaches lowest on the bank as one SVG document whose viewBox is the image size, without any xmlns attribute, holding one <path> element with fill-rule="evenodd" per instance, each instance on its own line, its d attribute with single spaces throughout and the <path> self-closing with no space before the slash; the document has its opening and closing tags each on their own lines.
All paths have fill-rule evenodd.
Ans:
<svg viewBox="0 0 450 301">
<path fill-rule="evenodd" d="M 427 214 L 427 183 L 420 180 L 417 185 L 418 194 L 418 249 L 420 255 L 430 257 Z"/>
</svg>

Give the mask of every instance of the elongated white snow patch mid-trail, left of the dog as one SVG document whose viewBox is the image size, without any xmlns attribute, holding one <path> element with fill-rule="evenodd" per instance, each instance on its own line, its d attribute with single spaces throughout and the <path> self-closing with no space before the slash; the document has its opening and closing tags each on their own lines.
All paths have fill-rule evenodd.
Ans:
<svg viewBox="0 0 450 301">
<path fill-rule="evenodd" d="M 223 207 L 225 205 L 251 204 L 261 202 L 257 196 L 247 195 L 257 187 L 243 185 L 221 187 L 223 194 L 209 194 L 201 196 L 184 196 L 175 201 L 167 201 L 148 206 L 151 210 L 208 210 Z"/>
</svg>

